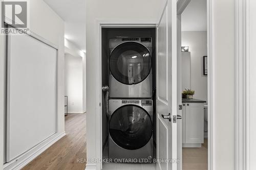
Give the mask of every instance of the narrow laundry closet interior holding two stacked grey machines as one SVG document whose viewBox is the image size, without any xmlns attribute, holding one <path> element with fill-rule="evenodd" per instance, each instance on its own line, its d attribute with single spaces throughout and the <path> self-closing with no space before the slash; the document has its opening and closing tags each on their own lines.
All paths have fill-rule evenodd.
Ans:
<svg viewBox="0 0 256 170">
<path fill-rule="evenodd" d="M 102 28 L 102 158 L 156 157 L 156 28 Z"/>
</svg>

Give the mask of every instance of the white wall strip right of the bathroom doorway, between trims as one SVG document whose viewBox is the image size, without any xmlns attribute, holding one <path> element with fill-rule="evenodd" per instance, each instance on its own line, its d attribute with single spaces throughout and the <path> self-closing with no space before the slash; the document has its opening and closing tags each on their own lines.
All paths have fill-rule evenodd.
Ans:
<svg viewBox="0 0 256 170">
<path fill-rule="evenodd" d="M 235 99 L 235 1 L 212 2 L 213 169 L 234 168 Z"/>
</svg>

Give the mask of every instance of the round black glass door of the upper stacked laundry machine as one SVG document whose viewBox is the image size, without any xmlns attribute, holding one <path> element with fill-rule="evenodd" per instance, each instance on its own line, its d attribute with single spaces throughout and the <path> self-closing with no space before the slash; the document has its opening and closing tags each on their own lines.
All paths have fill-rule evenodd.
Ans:
<svg viewBox="0 0 256 170">
<path fill-rule="evenodd" d="M 150 74 L 151 55 L 147 48 L 137 42 L 118 45 L 110 56 L 110 71 L 113 77 L 127 85 L 142 82 Z"/>
</svg>

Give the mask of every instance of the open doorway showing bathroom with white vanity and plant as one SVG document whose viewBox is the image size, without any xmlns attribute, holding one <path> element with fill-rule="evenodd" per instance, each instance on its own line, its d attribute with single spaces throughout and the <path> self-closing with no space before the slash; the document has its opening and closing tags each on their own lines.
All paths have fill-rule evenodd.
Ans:
<svg viewBox="0 0 256 170">
<path fill-rule="evenodd" d="M 182 2 L 183 10 L 177 11 L 182 92 L 180 168 L 193 167 L 206 170 L 208 169 L 207 2 L 204 0 Z"/>
</svg>

